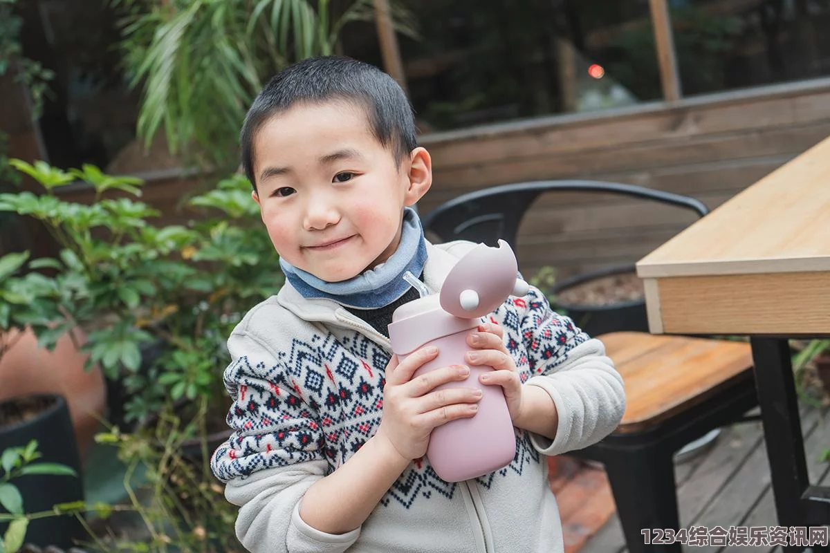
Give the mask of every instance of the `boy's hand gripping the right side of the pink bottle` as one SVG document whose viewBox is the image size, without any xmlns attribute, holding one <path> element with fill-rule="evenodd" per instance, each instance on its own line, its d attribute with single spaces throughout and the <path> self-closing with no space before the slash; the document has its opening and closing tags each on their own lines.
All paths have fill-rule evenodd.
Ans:
<svg viewBox="0 0 830 553">
<path fill-rule="evenodd" d="M 471 365 L 489 365 L 495 371 L 481 375 L 481 383 L 487 386 L 501 386 L 505 391 L 507 409 L 514 424 L 519 420 L 523 408 L 523 390 L 515 361 L 507 351 L 504 342 L 505 331 L 496 324 L 479 325 L 478 332 L 470 332 L 467 343 L 475 348 L 467 352 L 466 359 Z"/>
</svg>

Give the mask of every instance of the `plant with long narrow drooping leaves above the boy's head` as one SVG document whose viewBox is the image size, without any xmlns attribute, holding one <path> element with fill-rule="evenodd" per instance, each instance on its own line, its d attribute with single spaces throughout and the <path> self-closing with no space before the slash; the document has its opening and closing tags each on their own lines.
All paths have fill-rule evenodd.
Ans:
<svg viewBox="0 0 830 553">
<path fill-rule="evenodd" d="M 271 75 L 333 53 L 346 24 L 374 13 L 370 0 L 339 14 L 330 0 L 113 1 L 129 8 L 122 47 L 144 88 L 139 136 L 149 145 L 164 129 L 172 153 L 222 169 L 237 163 L 242 119 Z"/>
</svg>

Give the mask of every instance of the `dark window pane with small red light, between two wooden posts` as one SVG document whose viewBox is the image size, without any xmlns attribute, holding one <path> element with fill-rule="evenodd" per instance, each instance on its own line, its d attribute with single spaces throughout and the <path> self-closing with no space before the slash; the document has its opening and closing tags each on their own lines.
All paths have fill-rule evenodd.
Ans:
<svg viewBox="0 0 830 553">
<path fill-rule="evenodd" d="M 589 111 L 661 95 L 653 41 L 631 48 L 619 28 L 650 32 L 647 0 L 401 0 L 417 38 L 398 35 L 408 92 L 425 132 Z M 377 39 L 344 51 L 380 63 Z M 642 60 L 632 71 L 632 58 Z M 647 71 L 642 68 L 648 64 Z"/>
</svg>

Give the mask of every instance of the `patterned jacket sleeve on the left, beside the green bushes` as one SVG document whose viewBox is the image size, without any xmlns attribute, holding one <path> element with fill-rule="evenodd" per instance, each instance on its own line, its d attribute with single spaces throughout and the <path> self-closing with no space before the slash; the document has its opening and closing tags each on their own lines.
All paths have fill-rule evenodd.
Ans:
<svg viewBox="0 0 830 553">
<path fill-rule="evenodd" d="M 228 339 L 224 373 L 232 398 L 230 439 L 211 458 L 225 497 L 239 507 L 236 531 L 251 553 L 343 553 L 360 529 L 319 531 L 300 518 L 306 490 L 330 473 L 316 411 L 286 378 L 286 368 L 245 332 Z"/>
</svg>

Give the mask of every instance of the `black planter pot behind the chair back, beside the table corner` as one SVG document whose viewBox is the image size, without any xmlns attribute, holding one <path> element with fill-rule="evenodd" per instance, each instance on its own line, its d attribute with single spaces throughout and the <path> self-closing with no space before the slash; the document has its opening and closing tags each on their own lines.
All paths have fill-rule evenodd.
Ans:
<svg viewBox="0 0 830 553">
<path fill-rule="evenodd" d="M 588 284 L 593 280 L 631 273 L 635 273 L 634 267 L 623 265 L 565 279 L 553 287 L 555 296 L 553 307 L 567 313 L 570 318 L 574 319 L 574 324 L 592 337 L 608 332 L 648 332 L 645 298 L 605 304 L 567 303 L 559 298 L 559 294 L 564 291 Z"/>
</svg>

